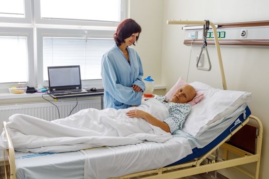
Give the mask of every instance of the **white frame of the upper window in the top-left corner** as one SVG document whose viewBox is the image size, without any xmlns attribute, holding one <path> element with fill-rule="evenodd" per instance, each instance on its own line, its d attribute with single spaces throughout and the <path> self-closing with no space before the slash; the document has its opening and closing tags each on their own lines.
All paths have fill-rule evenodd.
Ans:
<svg viewBox="0 0 269 179">
<path fill-rule="evenodd" d="M 22 23 L 31 24 L 32 23 L 32 4 L 31 0 L 25 1 L 25 18 L 20 17 L 0 17 L 0 23 Z"/>
</svg>

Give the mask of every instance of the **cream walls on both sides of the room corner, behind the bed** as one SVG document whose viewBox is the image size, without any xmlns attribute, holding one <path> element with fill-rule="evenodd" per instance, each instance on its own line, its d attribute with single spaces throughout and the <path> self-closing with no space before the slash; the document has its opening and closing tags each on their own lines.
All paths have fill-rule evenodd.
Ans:
<svg viewBox="0 0 269 179">
<path fill-rule="evenodd" d="M 214 46 L 209 46 L 213 69 L 209 72 L 197 71 L 196 55 L 200 47 L 183 44 L 184 31 L 181 25 L 167 25 L 168 19 L 204 20 L 214 23 L 233 23 L 243 21 L 268 20 L 269 1 L 259 0 L 129 0 L 130 17 L 142 27 L 142 33 L 135 49 L 139 53 L 144 76 L 152 75 L 157 84 L 173 86 L 179 76 L 187 79 L 189 59 L 191 66 L 189 82 L 201 81 L 215 87 L 222 87 L 219 66 Z M 191 53 L 192 51 L 192 53 Z M 253 94 L 249 103 L 252 114 L 262 120 L 263 146 L 260 177 L 267 178 L 269 171 L 269 108 L 266 96 L 269 82 L 269 47 L 221 46 L 224 71 L 228 89 L 247 91 Z M 252 166 L 248 166 L 253 168 Z M 221 171 L 230 178 L 247 178 L 231 170 Z"/>
</svg>

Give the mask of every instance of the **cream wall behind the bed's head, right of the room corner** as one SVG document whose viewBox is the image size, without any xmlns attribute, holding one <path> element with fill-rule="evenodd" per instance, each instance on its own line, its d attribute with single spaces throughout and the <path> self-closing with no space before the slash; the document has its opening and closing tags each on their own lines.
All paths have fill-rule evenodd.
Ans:
<svg viewBox="0 0 269 179">
<path fill-rule="evenodd" d="M 188 19 L 204 20 L 209 19 L 213 23 L 232 23 L 255 20 L 269 20 L 267 10 L 269 1 L 164 1 L 163 21 L 168 19 Z M 187 78 L 188 64 L 191 48 L 184 46 L 184 31 L 181 25 L 163 26 L 163 46 L 162 46 L 162 81 L 170 88 L 179 76 Z M 215 48 L 209 47 L 209 53 L 213 65 L 211 73 L 197 71 L 195 68 L 196 54 L 200 47 L 192 48 L 191 68 L 189 82 L 201 81 L 215 87 L 221 87 L 221 77 L 219 66 L 216 62 L 217 57 Z M 268 67 L 269 67 L 269 47 L 238 47 L 221 46 L 221 53 L 226 75 L 227 88 L 239 91 L 248 91 L 253 94 L 253 100 L 249 103 L 252 114 L 262 120 L 263 146 L 260 168 L 260 177 L 267 178 L 269 171 L 266 170 L 269 165 L 269 154 L 266 148 L 269 148 L 269 121 L 268 113 Z M 223 172 L 223 171 L 222 171 Z M 231 170 L 224 171 L 230 178 L 248 178 L 245 175 L 238 177 Z"/>
</svg>

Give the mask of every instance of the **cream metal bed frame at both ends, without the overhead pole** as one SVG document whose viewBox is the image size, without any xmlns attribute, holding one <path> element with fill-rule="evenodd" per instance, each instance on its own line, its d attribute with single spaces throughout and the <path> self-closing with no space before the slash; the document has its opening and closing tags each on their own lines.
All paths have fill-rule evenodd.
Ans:
<svg viewBox="0 0 269 179">
<path fill-rule="evenodd" d="M 225 141 L 232 137 L 234 133 L 236 133 L 240 128 L 245 125 L 249 119 L 254 119 L 258 123 L 258 128 L 259 128 L 259 133 L 257 136 L 257 144 L 256 144 L 256 153 L 252 154 L 249 152 L 246 152 L 242 149 L 239 149 L 234 146 L 230 146 L 229 144 L 226 144 Z M 9 164 L 5 164 L 5 168 L 9 166 L 9 173 L 6 170 L 6 179 L 7 178 L 16 178 L 16 167 L 15 167 L 15 155 L 14 155 L 14 147 L 11 141 L 11 138 L 8 134 L 7 128 L 6 128 L 6 122 L 3 123 L 4 125 L 4 130 L 7 135 L 7 143 L 8 143 L 8 149 L 7 154 L 8 154 L 8 162 Z M 204 173 L 204 172 L 209 172 L 209 171 L 214 171 L 218 169 L 223 169 L 223 168 L 229 168 L 229 167 L 236 167 L 242 164 L 247 164 L 247 163 L 254 163 L 256 162 L 256 172 L 255 175 L 252 176 L 250 173 L 247 173 L 246 171 L 243 171 L 242 169 L 236 167 L 238 170 L 244 172 L 245 174 L 258 179 L 259 177 L 259 168 L 260 168 L 260 158 L 261 158 L 261 145 L 262 145 L 262 133 L 263 133 L 263 128 L 262 128 L 262 123 L 259 118 L 255 116 L 250 116 L 247 118 L 242 125 L 238 126 L 232 133 L 230 133 L 229 136 L 227 136 L 223 141 L 221 141 L 218 145 L 216 145 L 212 150 L 210 150 L 208 153 L 204 154 L 201 156 L 201 158 L 187 162 L 184 164 L 179 164 L 175 166 L 169 166 L 169 167 L 163 167 L 163 168 L 158 168 L 154 170 L 148 170 L 148 171 L 142 171 L 138 173 L 133 173 L 133 174 L 128 174 L 120 177 L 114 177 L 114 178 L 179 178 L 179 177 L 184 177 L 184 176 L 190 176 L 190 175 L 195 175 L 199 173 Z M 239 154 L 241 157 L 236 158 L 236 159 L 231 159 L 231 160 L 226 160 L 222 161 L 220 160 L 219 162 L 212 161 L 210 164 L 205 164 L 205 165 L 200 165 L 206 158 L 213 153 L 218 147 L 224 147 L 228 151 L 234 152 Z"/>
</svg>

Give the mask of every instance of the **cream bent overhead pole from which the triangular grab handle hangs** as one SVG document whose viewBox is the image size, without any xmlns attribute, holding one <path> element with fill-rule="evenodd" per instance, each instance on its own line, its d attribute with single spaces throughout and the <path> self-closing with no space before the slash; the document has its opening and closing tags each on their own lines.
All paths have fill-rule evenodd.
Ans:
<svg viewBox="0 0 269 179">
<path fill-rule="evenodd" d="M 167 24 L 169 25 L 205 25 L 206 21 L 196 21 L 196 20 L 168 20 Z M 213 29 L 214 36 L 217 37 L 217 29 L 214 23 L 210 21 L 209 25 Z M 215 39 L 215 46 L 216 46 L 216 51 L 218 54 L 218 59 L 219 59 L 219 68 L 220 68 L 220 73 L 221 73 L 221 79 L 222 79 L 222 86 L 223 89 L 227 89 L 226 85 L 226 79 L 225 79 L 225 74 L 224 74 L 224 69 L 223 69 L 223 63 L 222 63 L 222 58 L 221 58 L 221 53 L 220 53 L 220 47 L 219 47 L 219 39 Z"/>
</svg>

